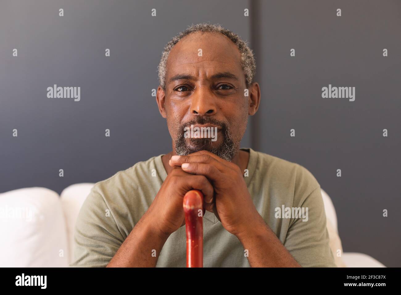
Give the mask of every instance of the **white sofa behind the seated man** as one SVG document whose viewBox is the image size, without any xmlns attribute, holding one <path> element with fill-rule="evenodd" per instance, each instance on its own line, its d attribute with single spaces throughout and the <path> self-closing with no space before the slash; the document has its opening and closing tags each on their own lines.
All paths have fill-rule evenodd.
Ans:
<svg viewBox="0 0 401 295">
<path fill-rule="evenodd" d="M 93 185 L 70 185 L 60 196 L 44 187 L 0 193 L 0 267 L 68 267 L 73 259 L 75 221 Z M 324 190 L 322 197 L 335 232 L 331 243 L 338 234 L 336 211 Z M 344 252 L 340 259 L 343 267 L 385 267 L 361 253 Z"/>
</svg>

